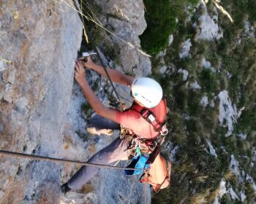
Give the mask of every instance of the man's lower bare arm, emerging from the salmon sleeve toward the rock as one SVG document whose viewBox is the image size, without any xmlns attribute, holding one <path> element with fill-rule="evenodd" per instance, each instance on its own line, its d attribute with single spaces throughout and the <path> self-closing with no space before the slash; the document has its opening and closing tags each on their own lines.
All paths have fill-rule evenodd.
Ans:
<svg viewBox="0 0 256 204">
<path fill-rule="evenodd" d="M 97 114 L 117 122 L 116 114 L 118 113 L 118 111 L 116 109 L 110 109 L 104 106 L 102 102 L 99 101 L 99 98 L 97 98 L 97 96 L 91 90 L 89 83 L 86 82 L 84 75 L 85 70 L 83 68 L 83 65 L 82 63 L 80 63 L 80 61 L 77 61 L 77 63 L 75 64 L 75 79 L 80 85 L 83 95 L 86 97 L 86 100 L 94 109 L 94 111 L 97 112 Z"/>
</svg>

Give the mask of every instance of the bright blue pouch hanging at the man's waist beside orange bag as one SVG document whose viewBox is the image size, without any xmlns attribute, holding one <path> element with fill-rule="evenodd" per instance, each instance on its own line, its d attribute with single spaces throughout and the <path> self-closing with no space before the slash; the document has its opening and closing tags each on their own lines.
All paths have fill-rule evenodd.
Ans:
<svg viewBox="0 0 256 204">
<path fill-rule="evenodd" d="M 127 165 L 127 168 L 140 168 L 140 169 L 148 169 L 149 163 L 148 156 L 145 155 L 138 155 L 137 157 L 132 158 L 132 162 Z M 124 173 L 129 175 L 138 175 L 140 173 L 143 173 L 143 170 L 124 170 Z"/>
</svg>

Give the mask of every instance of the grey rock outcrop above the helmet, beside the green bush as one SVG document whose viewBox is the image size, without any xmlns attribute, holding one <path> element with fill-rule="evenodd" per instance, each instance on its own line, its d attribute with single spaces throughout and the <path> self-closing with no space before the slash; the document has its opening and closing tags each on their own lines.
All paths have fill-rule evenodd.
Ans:
<svg viewBox="0 0 256 204">
<path fill-rule="evenodd" d="M 143 1 L 107 1 L 100 0 L 103 25 L 113 28 L 116 36 L 140 48 L 139 35 L 146 29 Z M 151 61 L 145 55 L 114 36 L 110 37 L 120 47 L 121 68 L 126 72 L 133 71 L 136 76 L 151 73 Z"/>
</svg>

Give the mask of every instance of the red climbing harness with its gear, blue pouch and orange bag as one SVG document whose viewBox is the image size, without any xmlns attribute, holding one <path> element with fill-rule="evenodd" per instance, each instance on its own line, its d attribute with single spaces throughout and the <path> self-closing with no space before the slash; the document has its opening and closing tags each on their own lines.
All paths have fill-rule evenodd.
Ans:
<svg viewBox="0 0 256 204">
<path fill-rule="evenodd" d="M 164 100 L 165 101 L 165 100 Z M 166 106 L 162 102 L 161 106 Z M 158 132 L 154 138 L 143 138 L 133 133 L 132 130 L 121 126 L 121 138 L 127 140 L 127 149 L 131 155 L 133 155 L 132 161 L 127 165 L 127 168 L 144 168 L 147 169 L 145 173 L 140 177 L 141 183 L 148 183 L 154 189 L 154 192 L 159 192 L 160 189 L 168 187 L 170 185 L 170 162 L 167 162 L 160 155 L 160 146 L 165 141 L 167 135 L 167 112 L 163 115 L 162 119 L 157 119 L 151 109 L 143 108 L 138 109 L 137 106 L 132 106 L 132 110 L 138 111 L 140 117 L 145 119 L 150 125 L 154 127 L 154 130 Z M 126 175 L 137 175 L 142 173 L 139 170 L 125 170 Z"/>
</svg>

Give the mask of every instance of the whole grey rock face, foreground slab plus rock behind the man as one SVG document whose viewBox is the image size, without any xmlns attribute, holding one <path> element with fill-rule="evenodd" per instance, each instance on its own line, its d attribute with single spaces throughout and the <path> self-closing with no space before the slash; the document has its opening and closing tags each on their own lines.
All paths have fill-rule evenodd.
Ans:
<svg viewBox="0 0 256 204">
<path fill-rule="evenodd" d="M 113 27 L 114 34 L 139 48 L 138 35 L 146 28 L 143 1 L 98 4 L 103 25 Z M 86 101 L 78 85 L 73 85 L 82 36 L 77 13 L 63 1 L 1 1 L 0 6 L 0 149 L 88 160 L 110 144 L 118 132 L 113 137 L 86 132 L 89 115 L 81 112 Z M 106 15 L 111 17 L 107 20 Z M 116 37 L 105 37 L 120 48 L 118 70 L 136 76 L 151 73 L 148 57 Z M 91 84 L 99 82 L 97 94 L 108 101 L 102 89 L 108 82 L 95 73 L 88 77 Z M 129 95 L 124 87 L 117 89 L 121 95 Z M 0 203 L 144 201 L 144 187 L 138 178 L 127 178 L 119 170 L 101 170 L 83 193 L 71 192 L 60 199 L 59 185 L 78 168 L 0 155 Z M 150 203 L 148 186 L 146 202 Z"/>
</svg>

